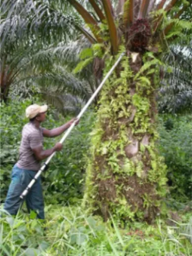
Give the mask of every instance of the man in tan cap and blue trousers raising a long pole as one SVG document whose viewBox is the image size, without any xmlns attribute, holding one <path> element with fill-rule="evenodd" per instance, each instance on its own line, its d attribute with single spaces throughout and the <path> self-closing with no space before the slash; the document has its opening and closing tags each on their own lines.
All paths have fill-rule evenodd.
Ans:
<svg viewBox="0 0 192 256">
<path fill-rule="evenodd" d="M 47 158 L 53 152 L 62 150 L 61 143 L 56 143 L 52 149 L 43 150 L 43 136 L 56 137 L 77 120 L 73 118 L 58 128 L 47 130 L 40 127 L 41 122 L 46 118 L 46 111 L 47 105 L 39 106 L 38 104 L 30 105 L 26 109 L 26 116 L 30 119 L 30 122 L 22 130 L 19 160 L 12 169 L 11 183 L 4 203 L 4 209 L 12 215 L 16 215 L 22 205 L 23 201 L 20 199 L 20 195 L 40 169 L 40 161 Z M 77 124 L 78 120 L 76 121 Z M 38 177 L 36 183 L 26 196 L 26 205 L 29 212 L 34 210 L 37 212 L 38 218 L 44 219 L 44 203 L 40 177 Z"/>
</svg>

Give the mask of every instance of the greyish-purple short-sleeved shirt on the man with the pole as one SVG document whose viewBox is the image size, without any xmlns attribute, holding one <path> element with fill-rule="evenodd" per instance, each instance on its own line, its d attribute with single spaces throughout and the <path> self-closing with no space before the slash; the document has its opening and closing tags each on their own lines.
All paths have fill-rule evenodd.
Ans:
<svg viewBox="0 0 192 256">
<path fill-rule="evenodd" d="M 32 122 L 27 123 L 22 130 L 22 139 L 19 149 L 19 160 L 17 166 L 21 169 L 38 171 L 40 161 L 38 161 L 32 149 L 43 144 L 43 128 L 37 128 Z"/>
</svg>

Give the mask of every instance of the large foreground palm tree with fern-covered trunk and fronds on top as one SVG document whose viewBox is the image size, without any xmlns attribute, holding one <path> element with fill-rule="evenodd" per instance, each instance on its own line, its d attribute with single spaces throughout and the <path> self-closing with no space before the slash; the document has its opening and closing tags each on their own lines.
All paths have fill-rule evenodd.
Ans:
<svg viewBox="0 0 192 256">
<path fill-rule="evenodd" d="M 20 2 L 22 13 L 30 17 L 26 22 L 26 26 L 31 24 L 30 31 L 37 24 L 39 29 L 35 32 L 40 34 L 45 35 L 49 27 L 48 38 L 58 31 L 66 34 L 60 16 L 56 22 L 52 1 L 46 1 L 50 7 L 47 12 L 44 0 Z M 29 8 L 34 2 L 35 6 Z M 100 95 L 84 205 L 105 220 L 111 213 L 121 221 L 136 217 L 151 222 L 166 194 L 166 167 L 155 147 L 156 91 L 160 70 L 166 66 L 161 56 L 170 51 L 171 45 L 178 44 L 181 37 L 183 45 L 189 44 L 189 34 L 185 32 L 192 28 L 188 21 L 191 14 L 185 17 L 183 13 L 190 2 L 119 0 L 114 1 L 116 5 L 110 0 L 89 0 L 86 5 L 76 0 L 63 2 L 74 6 L 82 17 L 86 26 L 82 20 L 70 24 L 92 45 L 82 51 L 77 72 L 94 61 L 94 73 L 101 80 L 118 55 L 126 52 Z M 61 1 L 54 1 L 57 3 Z M 14 11 L 12 8 L 10 12 Z M 45 13 L 46 18 L 42 18 Z M 48 25 L 45 20 L 50 20 Z"/>
</svg>

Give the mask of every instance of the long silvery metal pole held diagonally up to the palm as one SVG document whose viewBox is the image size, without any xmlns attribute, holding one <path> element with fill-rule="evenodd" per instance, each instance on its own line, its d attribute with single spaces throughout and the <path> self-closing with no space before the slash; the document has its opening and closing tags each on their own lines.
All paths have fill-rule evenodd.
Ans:
<svg viewBox="0 0 192 256">
<path fill-rule="evenodd" d="M 107 73 L 107 75 L 105 76 L 105 78 L 103 79 L 103 81 L 101 82 L 101 84 L 99 85 L 99 87 L 95 90 L 95 92 L 93 93 L 93 95 L 91 96 L 91 98 L 88 100 L 88 102 L 84 105 L 84 107 L 81 109 L 80 113 L 77 115 L 77 120 L 80 119 L 80 117 L 83 115 L 83 113 L 85 112 L 85 110 L 87 109 L 87 107 L 91 104 L 91 102 L 94 100 L 94 98 L 96 97 L 96 95 L 99 93 L 99 91 L 101 90 L 101 88 L 103 87 L 103 85 L 105 84 L 106 80 L 109 78 L 109 76 L 112 74 L 112 72 L 114 71 L 115 67 L 118 65 L 119 61 L 121 60 L 122 56 L 125 53 L 121 53 L 121 55 L 119 56 L 119 58 L 117 59 L 117 61 L 115 62 L 115 64 L 113 65 L 113 67 L 110 69 L 110 71 Z M 73 124 L 70 126 L 70 128 L 67 130 L 67 132 L 64 134 L 63 138 L 60 140 L 60 143 L 63 143 L 65 141 L 65 139 L 67 138 L 67 136 L 71 133 L 71 131 L 73 130 L 76 121 L 73 122 Z M 33 178 L 33 180 L 31 180 L 31 182 L 29 183 L 29 185 L 27 186 L 27 188 L 23 191 L 23 193 L 21 194 L 20 198 L 24 199 L 24 197 L 28 194 L 29 190 L 31 189 L 31 187 L 34 185 L 34 183 L 36 182 L 36 180 L 38 179 L 38 177 L 40 176 L 41 172 L 47 167 L 48 163 L 50 162 L 50 160 L 52 159 L 52 157 L 55 155 L 56 152 L 54 152 L 53 154 L 51 154 L 46 162 L 44 162 L 44 164 L 41 166 L 41 168 L 38 170 L 37 174 L 35 175 L 35 177 Z"/>
</svg>

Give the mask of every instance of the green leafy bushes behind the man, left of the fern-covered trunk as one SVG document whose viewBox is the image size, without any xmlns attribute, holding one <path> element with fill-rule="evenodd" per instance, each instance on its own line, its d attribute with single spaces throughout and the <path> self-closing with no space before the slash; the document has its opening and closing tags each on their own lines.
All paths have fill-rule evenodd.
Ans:
<svg viewBox="0 0 192 256">
<path fill-rule="evenodd" d="M 39 99 L 34 100 L 38 103 Z M 8 105 L 1 104 L 1 173 L 0 191 L 1 201 L 6 197 L 10 183 L 10 174 L 14 163 L 19 156 L 21 131 L 28 120 L 25 118 L 25 109 L 32 102 L 14 101 Z M 42 103 L 42 102 L 40 102 Z M 63 117 L 56 110 L 50 108 L 47 113 L 47 120 L 42 124 L 47 129 L 58 127 L 69 121 L 72 117 Z M 42 174 L 45 199 L 49 203 L 60 203 L 62 201 L 73 201 L 82 197 L 83 173 L 85 155 L 89 148 L 89 132 L 93 124 L 94 115 L 87 111 L 81 118 L 78 126 L 64 143 L 62 152 L 54 156 L 49 168 Z M 44 149 L 54 146 L 62 138 L 45 138 Z"/>
</svg>

